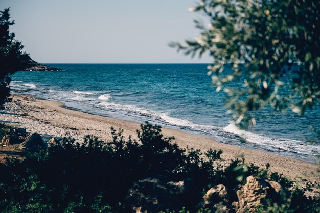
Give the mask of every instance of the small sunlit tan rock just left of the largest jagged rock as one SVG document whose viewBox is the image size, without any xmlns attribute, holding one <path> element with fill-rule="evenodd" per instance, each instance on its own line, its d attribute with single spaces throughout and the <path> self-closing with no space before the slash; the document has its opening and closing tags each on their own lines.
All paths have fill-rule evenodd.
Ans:
<svg viewBox="0 0 320 213">
<path fill-rule="evenodd" d="M 223 184 L 216 185 L 208 190 L 199 205 L 204 209 L 212 210 L 212 212 L 234 212 L 230 205 L 230 196 Z"/>
</svg>

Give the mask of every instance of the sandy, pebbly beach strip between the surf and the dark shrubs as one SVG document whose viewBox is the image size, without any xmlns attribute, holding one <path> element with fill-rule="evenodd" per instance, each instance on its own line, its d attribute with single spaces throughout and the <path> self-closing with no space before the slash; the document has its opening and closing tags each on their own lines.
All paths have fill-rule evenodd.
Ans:
<svg viewBox="0 0 320 213">
<path fill-rule="evenodd" d="M 0 114 L 0 122 L 10 122 L 27 129 L 28 132 L 38 132 L 41 135 L 63 137 L 66 132 L 70 136 L 82 140 L 86 135 L 94 135 L 107 141 L 111 138 L 110 127 L 124 129 L 124 136 L 136 137 L 136 129 L 140 123 L 116 118 L 88 114 L 70 108 L 64 108 L 64 103 L 43 100 L 27 95 L 13 95 L 9 110 Z M 180 147 L 193 147 L 202 151 L 221 149 L 225 162 L 244 156 L 246 163 L 265 166 L 269 163 L 270 171 L 283 174 L 296 181 L 319 181 L 318 165 L 304 162 L 286 156 L 280 156 L 260 150 L 245 149 L 234 145 L 219 143 L 212 138 L 190 134 L 178 129 L 162 128 L 165 137 L 174 136 Z"/>
</svg>

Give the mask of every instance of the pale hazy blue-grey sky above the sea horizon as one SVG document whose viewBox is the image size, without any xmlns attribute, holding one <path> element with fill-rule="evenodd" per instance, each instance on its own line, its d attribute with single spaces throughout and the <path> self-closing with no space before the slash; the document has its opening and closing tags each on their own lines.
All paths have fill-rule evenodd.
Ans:
<svg viewBox="0 0 320 213">
<path fill-rule="evenodd" d="M 194 0 L 1 0 L 11 32 L 40 63 L 210 63 L 170 41 L 194 38 Z"/>
</svg>

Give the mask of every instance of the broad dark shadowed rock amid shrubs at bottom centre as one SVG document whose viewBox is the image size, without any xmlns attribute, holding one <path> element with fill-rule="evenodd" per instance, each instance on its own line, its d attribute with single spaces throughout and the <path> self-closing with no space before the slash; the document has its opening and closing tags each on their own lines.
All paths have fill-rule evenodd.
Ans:
<svg viewBox="0 0 320 213">
<path fill-rule="evenodd" d="M 176 182 L 158 175 L 135 182 L 125 200 L 135 212 L 181 210 L 194 203 L 193 189 L 192 179 Z"/>
</svg>

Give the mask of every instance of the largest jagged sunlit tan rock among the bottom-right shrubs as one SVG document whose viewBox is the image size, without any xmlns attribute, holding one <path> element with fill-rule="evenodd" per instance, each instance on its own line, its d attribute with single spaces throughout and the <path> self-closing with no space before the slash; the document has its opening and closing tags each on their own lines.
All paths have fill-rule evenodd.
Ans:
<svg viewBox="0 0 320 213">
<path fill-rule="evenodd" d="M 267 204 L 268 199 L 281 203 L 286 194 L 279 183 L 254 176 L 247 177 L 246 184 L 241 185 L 236 193 L 238 202 L 233 202 L 232 205 L 237 213 L 254 212 L 256 206 Z"/>
</svg>

